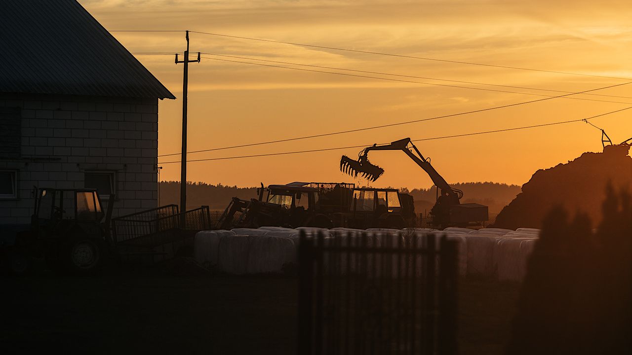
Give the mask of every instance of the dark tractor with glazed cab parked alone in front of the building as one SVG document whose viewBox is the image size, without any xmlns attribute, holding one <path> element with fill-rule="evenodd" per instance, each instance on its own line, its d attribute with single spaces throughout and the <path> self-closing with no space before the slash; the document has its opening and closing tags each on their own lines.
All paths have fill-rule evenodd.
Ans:
<svg viewBox="0 0 632 355">
<path fill-rule="evenodd" d="M 16 233 L 13 243 L 3 248 L 9 270 L 25 274 L 33 258 L 44 258 L 49 267 L 71 274 L 99 270 L 112 251 L 108 238 L 112 203 L 104 212 L 92 189 L 34 190 L 30 229 Z"/>
</svg>

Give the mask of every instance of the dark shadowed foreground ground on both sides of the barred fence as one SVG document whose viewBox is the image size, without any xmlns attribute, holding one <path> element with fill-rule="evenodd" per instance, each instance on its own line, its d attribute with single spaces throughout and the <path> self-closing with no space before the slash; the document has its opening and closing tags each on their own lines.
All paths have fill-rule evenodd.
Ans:
<svg viewBox="0 0 632 355">
<path fill-rule="evenodd" d="M 296 291 L 282 277 L 34 276 L 2 280 L 4 354 L 295 354 Z M 501 354 L 518 286 L 463 280 L 461 354 Z"/>
</svg>

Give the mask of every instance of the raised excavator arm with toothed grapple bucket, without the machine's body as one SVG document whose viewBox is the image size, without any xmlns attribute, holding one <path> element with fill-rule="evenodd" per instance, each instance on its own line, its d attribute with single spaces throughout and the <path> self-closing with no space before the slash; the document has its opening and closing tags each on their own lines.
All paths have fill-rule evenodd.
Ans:
<svg viewBox="0 0 632 355">
<path fill-rule="evenodd" d="M 410 145 L 410 147 L 409 147 Z M 384 169 L 378 167 L 377 165 L 371 164 L 368 161 L 367 154 L 372 150 L 401 150 L 406 153 L 410 159 L 412 159 L 419 167 L 425 171 L 432 182 L 437 186 L 437 188 L 441 189 L 442 195 L 447 195 L 450 200 L 453 200 L 458 204 L 458 201 L 461 197 L 463 197 L 463 192 L 461 190 L 457 190 L 452 188 L 444 179 L 439 172 L 437 172 L 432 164 L 430 164 L 430 159 L 426 159 L 423 157 L 422 153 L 415 147 L 415 145 L 410 141 L 410 138 L 404 138 L 402 140 L 394 141 L 390 144 L 386 145 L 372 145 L 371 147 L 364 148 L 362 152 L 360 152 L 360 157 L 358 160 L 349 159 L 343 155 L 340 160 L 340 169 L 343 172 L 348 174 L 353 174 L 354 176 L 358 176 L 358 173 L 361 174 L 364 178 L 370 179 L 371 181 L 377 180 Z M 414 152 L 413 152 L 414 150 Z"/>
</svg>

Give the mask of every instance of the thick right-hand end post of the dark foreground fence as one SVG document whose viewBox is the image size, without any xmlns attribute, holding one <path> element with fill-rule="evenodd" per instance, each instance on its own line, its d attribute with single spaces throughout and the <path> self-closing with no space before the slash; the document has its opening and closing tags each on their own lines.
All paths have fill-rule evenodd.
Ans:
<svg viewBox="0 0 632 355">
<path fill-rule="evenodd" d="M 458 242 L 441 239 L 439 256 L 439 354 L 458 354 Z"/>
</svg>

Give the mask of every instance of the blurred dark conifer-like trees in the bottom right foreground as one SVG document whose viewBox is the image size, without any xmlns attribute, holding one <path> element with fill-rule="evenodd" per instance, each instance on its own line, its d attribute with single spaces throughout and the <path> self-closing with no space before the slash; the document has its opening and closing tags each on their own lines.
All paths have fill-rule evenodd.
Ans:
<svg viewBox="0 0 632 355">
<path fill-rule="evenodd" d="M 606 192 L 596 231 L 561 207 L 544 219 L 507 354 L 631 353 L 631 198 Z"/>
</svg>

